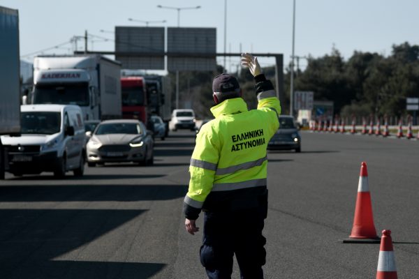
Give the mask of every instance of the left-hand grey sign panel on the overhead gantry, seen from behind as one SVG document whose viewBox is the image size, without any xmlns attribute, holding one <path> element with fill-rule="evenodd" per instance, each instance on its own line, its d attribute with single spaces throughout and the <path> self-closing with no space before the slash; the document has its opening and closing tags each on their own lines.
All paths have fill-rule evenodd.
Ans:
<svg viewBox="0 0 419 279">
<path fill-rule="evenodd" d="M 124 69 L 164 70 L 164 27 L 115 27 L 115 59 Z"/>
</svg>

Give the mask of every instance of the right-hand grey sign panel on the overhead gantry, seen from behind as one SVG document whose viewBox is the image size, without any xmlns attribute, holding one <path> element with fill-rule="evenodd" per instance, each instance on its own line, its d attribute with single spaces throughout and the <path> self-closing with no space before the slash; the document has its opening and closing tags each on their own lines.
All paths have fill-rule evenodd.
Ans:
<svg viewBox="0 0 419 279">
<path fill-rule="evenodd" d="M 215 28 L 168 28 L 168 70 L 215 70 Z"/>
</svg>

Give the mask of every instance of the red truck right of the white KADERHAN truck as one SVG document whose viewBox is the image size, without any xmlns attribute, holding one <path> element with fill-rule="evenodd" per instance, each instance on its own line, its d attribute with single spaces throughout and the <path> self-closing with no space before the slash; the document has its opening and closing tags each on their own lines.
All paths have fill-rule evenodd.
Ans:
<svg viewBox="0 0 419 279">
<path fill-rule="evenodd" d="M 147 87 L 143 77 L 121 77 L 122 116 L 147 125 Z"/>
</svg>

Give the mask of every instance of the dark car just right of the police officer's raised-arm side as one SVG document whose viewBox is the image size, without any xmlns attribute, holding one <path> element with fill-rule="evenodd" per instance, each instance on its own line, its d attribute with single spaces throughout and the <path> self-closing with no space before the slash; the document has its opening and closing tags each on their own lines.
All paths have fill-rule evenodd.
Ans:
<svg viewBox="0 0 419 279">
<path fill-rule="evenodd" d="M 279 116 L 279 129 L 267 144 L 267 149 L 295 149 L 295 152 L 301 152 L 301 136 L 293 116 Z"/>
</svg>

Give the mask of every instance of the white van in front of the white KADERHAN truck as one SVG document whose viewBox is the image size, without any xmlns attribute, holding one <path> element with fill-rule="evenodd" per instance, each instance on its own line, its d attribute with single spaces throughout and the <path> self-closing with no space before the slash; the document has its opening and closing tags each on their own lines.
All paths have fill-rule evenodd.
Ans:
<svg viewBox="0 0 419 279">
<path fill-rule="evenodd" d="M 15 176 L 54 172 L 64 177 L 73 170 L 75 176 L 83 175 L 86 151 L 80 107 L 21 105 L 20 114 L 20 137 L 1 136 L 7 172 Z"/>
</svg>

